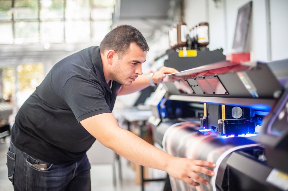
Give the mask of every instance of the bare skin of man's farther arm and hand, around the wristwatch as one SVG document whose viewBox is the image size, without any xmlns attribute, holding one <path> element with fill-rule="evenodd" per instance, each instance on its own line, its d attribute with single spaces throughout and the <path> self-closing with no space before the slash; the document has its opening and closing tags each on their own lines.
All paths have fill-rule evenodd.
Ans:
<svg viewBox="0 0 288 191">
<path fill-rule="evenodd" d="M 153 82 L 155 84 L 159 84 L 163 81 L 166 74 L 172 74 L 175 72 L 178 72 L 178 71 L 174 68 L 163 66 L 162 68 L 160 68 L 160 70 L 155 72 L 154 75 L 152 76 Z M 138 78 L 134 82 L 132 82 L 130 86 L 123 85 L 118 95 L 125 95 L 125 94 L 130 94 L 133 92 L 137 92 L 137 91 L 143 90 L 144 88 L 147 88 L 148 86 L 150 86 L 148 76 L 141 75 L 141 76 L 138 76 Z"/>
</svg>

